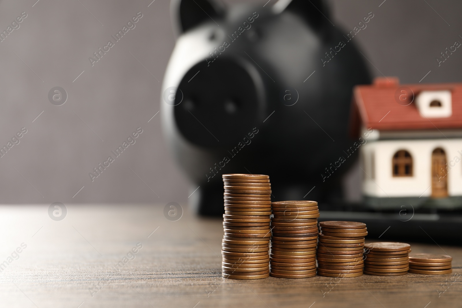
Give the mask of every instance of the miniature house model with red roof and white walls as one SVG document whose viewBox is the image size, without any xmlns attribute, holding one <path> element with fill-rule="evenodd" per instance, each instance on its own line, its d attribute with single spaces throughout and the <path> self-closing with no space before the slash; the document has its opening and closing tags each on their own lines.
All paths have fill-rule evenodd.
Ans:
<svg viewBox="0 0 462 308">
<path fill-rule="evenodd" d="M 365 204 L 462 208 L 462 83 L 400 85 L 377 78 L 353 90 Z"/>
</svg>

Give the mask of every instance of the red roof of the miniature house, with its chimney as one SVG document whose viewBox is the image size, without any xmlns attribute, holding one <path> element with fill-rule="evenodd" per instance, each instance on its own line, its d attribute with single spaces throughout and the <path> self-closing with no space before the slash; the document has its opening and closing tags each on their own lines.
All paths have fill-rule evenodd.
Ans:
<svg viewBox="0 0 462 308">
<path fill-rule="evenodd" d="M 414 97 L 420 91 L 452 92 L 452 115 L 445 118 L 430 118 L 420 115 L 415 101 L 407 106 L 398 103 L 400 87 L 408 87 Z M 395 94 L 397 93 L 397 94 Z M 413 100 L 412 94 L 409 97 Z M 416 130 L 462 128 L 462 83 L 400 85 L 396 77 L 376 78 L 372 85 L 357 85 L 353 89 L 352 130 L 359 127 L 378 130 Z"/>
</svg>

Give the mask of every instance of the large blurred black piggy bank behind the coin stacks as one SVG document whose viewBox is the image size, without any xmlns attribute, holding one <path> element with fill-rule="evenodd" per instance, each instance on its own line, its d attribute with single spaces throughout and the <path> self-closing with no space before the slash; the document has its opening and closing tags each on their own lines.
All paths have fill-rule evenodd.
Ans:
<svg viewBox="0 0 462 308">
<path fill-rule="evenodd" d="M 328 179 L 322 174 L 353 143 L 353 86 L 370 83 L 355 31 L 344 35 L 320 0 L 231 8 L 172 0 L 171 12 L 177 40 L 161 115 L 193 182 L 190 205 L 222 214 L 224 173 L 268 174 L 278 200 L 340 197 L 340 175 L 354 157 Z"/>
</svg>

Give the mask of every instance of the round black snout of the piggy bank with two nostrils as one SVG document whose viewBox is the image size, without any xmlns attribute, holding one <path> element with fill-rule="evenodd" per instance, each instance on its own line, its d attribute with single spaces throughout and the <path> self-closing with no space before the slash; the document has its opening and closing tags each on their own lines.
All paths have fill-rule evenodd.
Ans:
<svg viewBox="0 0 462 308">
<path fill-rule="evenodd" d="M 198 63 L 178 87 L 182 101 L 174 107 L 176 127 L 202 147 L 238 142 L 255 127 L 261 109 L 257 88 L 255 76 L 232 59 Z"/>
</svg>

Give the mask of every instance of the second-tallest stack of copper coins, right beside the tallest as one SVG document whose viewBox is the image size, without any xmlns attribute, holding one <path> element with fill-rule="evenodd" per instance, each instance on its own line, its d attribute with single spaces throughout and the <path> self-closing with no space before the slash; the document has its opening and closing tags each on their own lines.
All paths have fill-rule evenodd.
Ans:
<svg viewBox="0 0 462 308">
<path fill-rule="evenodd" d="M 271 276 L 316 276 L 317 202 L 279 201 L 271 206 Z"/>
</svg>

